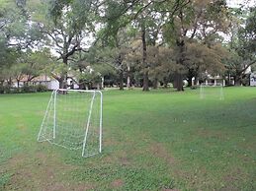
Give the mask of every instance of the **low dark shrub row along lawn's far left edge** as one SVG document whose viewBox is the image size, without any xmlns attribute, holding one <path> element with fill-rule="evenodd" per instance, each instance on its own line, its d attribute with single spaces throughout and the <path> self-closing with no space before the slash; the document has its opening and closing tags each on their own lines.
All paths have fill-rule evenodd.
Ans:
<svg viewBox="0 0 256 191">
<path fill-rule="evenodd" d="M 13 88 L 10 86 L 0 86 L 0 94 L 22 94 L 22 93 L 43 93 L 47 88 L 43 85 L 24 86 Z"/>
</svg>

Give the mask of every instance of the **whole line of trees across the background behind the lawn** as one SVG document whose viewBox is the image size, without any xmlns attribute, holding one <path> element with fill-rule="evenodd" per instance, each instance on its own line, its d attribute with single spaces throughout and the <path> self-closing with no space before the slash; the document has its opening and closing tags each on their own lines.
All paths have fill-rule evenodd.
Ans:
<svg viewBox="0 0 256 191">
<path fill-rule="evenodd" d="M 141 87 L 218 75 L 246 84 L 253 8 L 225 0 L 0 0 L 0 86 L 47 75 L 67 87 Z"/>
</svg>

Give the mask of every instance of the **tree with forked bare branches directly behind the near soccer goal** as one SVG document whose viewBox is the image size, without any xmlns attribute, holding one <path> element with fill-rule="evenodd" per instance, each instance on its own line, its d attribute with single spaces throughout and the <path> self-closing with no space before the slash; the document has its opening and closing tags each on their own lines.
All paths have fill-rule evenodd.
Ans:
<svg viewBox="0 0 256 191">
<path fill-rule="evenodd" d="M 61 60 L 60 68 L 63 69 L 60 72 L 60 65 L 57 64 L 58 75 L 52 74 L 52 77 L 59 82 L 60 88 L 66 88 L 69 62 L 76 52 L 85 49 L 84 38 L 94 31 L 93 12 L 97 1 L 47 0 L 42 6 L 46 8 L 47 15 L 38 26 L 49 38 L 46 45 L 58 54 L 57 59 Z"/>
</svg>

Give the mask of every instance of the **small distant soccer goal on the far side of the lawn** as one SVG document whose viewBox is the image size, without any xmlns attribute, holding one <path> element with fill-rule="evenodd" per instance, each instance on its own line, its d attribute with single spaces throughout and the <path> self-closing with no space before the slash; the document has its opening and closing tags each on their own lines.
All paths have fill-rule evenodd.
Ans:
<svg viewBox="0 0 256 191">
<path fill-rule="evenodd" d="M 223 85 L 221 83 L 202 83 L 200 85 L 200 98 L 224 99 Z"/>
</svg>

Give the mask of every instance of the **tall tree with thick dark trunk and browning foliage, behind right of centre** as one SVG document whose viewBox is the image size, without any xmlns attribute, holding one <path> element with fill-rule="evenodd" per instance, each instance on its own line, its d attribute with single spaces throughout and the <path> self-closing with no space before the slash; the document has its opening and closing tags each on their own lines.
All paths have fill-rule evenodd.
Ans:
<svg viewBox="0 0 256 191">
<path fill-rule="evenodd" d="M 183 91 L 183 79 L 189 72 L 195 70 L 193 62 L 189 62 L 187 44 L 195 40 L 212 48 L 217 39 L 217 32 L 225 32 L 227 27 L 227 12 L 222 0 L 181 1 L 183 6 L 177 8 L 176 17 L 170 17 L 164 26 L 166 42 L 174 46 L 176 52 L 176 72 L 174 87 Z M 208 51 L 212 52 L 213 51 Z M 192 67 L 190 67 L 192 66 Z M 197 69 L 196 69 L 197 71 Z M 190 77 L 191 78 L 191 77 Z"/>
</svg>

